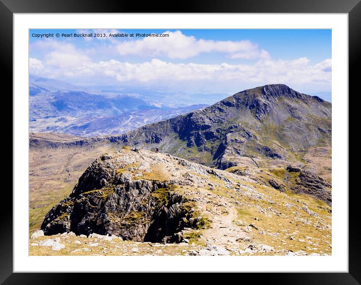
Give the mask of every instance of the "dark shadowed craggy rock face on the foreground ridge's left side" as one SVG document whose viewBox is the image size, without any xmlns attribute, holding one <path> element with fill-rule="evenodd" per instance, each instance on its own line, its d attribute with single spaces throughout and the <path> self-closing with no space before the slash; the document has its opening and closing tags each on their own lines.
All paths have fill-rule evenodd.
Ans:
<svg viewBox="0 0 361 285">
<path fill-rule="evenodd" d="M 74 187 L 46 215 L 45 235 L 74 232 L 115 235 L 125 240 L 182 242 L 184 227 L 198 219 L 187 199 L 174 193 L 168 181 L 133 179 L 116 169 L 116 160 L 103 155 L 95 160 Z"/>
</svg>

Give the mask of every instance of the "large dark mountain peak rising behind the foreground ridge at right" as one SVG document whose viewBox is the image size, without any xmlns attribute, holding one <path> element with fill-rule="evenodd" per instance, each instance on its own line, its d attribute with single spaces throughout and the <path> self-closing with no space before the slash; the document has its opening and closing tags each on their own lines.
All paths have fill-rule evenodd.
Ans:
<svg viewBox="0 0 361 285">
<path fill-rule="evenodd" d="M 317 96 L 265 85 L 112 139 L 221 169 L 270 159 L 301 166 L 313 147 L 331 146 L 331 114 Z"/>
</svg>

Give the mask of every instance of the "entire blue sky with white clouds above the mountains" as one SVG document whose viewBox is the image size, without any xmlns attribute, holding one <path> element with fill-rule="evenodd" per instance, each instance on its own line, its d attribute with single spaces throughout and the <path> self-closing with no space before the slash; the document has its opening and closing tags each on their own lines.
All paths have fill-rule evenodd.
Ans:
<svg viewBox="0 0 361 285">
<path fill-rule="evenodd" d="M 105 33 L 104 38 L 47 33 Z M 169 37 L 109 37 L 110 34 Z M 78 85 L 232 94 L 283 83 L 331 92 L 331 30 L 30 30 L 30 73 Z"/>
</svg>

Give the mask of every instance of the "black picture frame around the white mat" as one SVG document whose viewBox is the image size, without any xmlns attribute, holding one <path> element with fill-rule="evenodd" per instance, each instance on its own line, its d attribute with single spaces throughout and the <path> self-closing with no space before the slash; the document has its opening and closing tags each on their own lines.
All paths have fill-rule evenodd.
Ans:
<svg viewBox="0 0 361 285">
<path fill-rule="evenodd" d="M 140 4 L 141 3 L 141 4 Z M 173 3 L 174 4 L 174 3 Z M 172 7 L 172 8 L 171 8 Z M 176 9 L 176 10 L 175 10 Z M 12 94 L 13 88 L 13 14 L 14 13 L 346 13 L 349 28 L 349 93 L 357 94 L 359 53 L 361 51 L 360 0 L 246 0 L 192 1 L 179 5 L 161 2 L 120 2 L 115 0 L 0 0 L 0 37 L 3 87 Z M 334 79 L 337 80 L 337 79 Z M 358 89 L 358 90 L 357 90 Z M 359 91 L 358 91 L 359 93 Z M 9 95 L 7 95 L 9 96 Z M 349 97 L 348 97 L 349 98 Z M 357 106 L 353 105 L 353 108 Z M 349 114 L 352 114 L 349 109 Z M 351 147 L 351 145 L 349 145 Z M 16 171 L 16 169 L 14 169 Z M 10 180 L 10 179 L 9 179 Z M 10 189 L 10 188 L 9 188 Z M 344 189 L 345 194 L 348 189 Z M 357 188 L 349 195 L 349 244 L 347 273 L 262 273 L 257 280 L 277 284 L 359 284 L 361 282 L 361 227 L 358 221 Z M 80 277 L 83 283 L 104 282 L 101 274 L 76 273 L 13 273 L 13 201 L 11 191 L 2 191 L 0 234 L 0 282 L 4 284 L 73 283 Z M 6 205 L 7 204 L 7 205 Z M 176 270 L 176 268 L 175 268 Z M 41 271 L 41 268 L 39 268 Z M 251 273 L 250 273 L 251 274 Z M 254 274 L 254 273 L 252 273 Z M 77 275 L 77 276 L 75 276 Z M 251 276 L 252 278 L 254 276 Z M 120 279 L 118 279 L 120 281 Z M 196 281 L 196 280 L 195 280 Z"/>
</svg>

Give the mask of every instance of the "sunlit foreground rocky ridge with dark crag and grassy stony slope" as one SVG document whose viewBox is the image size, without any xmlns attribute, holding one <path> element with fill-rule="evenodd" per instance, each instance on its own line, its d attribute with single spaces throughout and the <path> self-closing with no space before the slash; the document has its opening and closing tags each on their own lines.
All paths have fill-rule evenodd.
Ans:
<svg viewBox="0 0 361 285">
<path fill-rule="evenodd" d="M 30 249 L 40 255 L 46 245 L 46 254 L 71 255 L 330 253 L 327 203 L 288 194 L 290 185 L 280 181 L 279 173 L 238 170 L 127 147 L 102 155 L 71 195 L 47 213 L 41 226 L 45 236 L 35 235 Z M 284 191 L 263 179 L 265 173 L 283 183 Z M 82 245 L 74 248 L 73 242 Z M 152 244 L 162 249 L 154 251 Z M 107 250 L 95 250 L 99 247 Z"/>
</svg>

